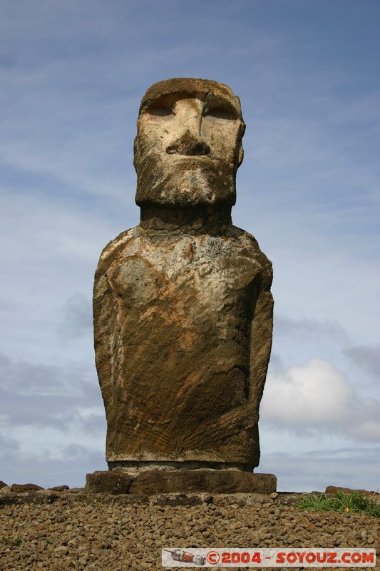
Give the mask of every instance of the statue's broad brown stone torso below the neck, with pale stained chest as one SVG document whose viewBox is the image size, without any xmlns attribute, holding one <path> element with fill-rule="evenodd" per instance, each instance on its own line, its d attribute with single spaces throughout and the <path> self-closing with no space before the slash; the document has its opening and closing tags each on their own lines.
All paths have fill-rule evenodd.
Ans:
<svg viewBox="0 0 380 571">
<path fill-rule="evenodd" d="M 190 236 L 138 227 L 106 248 L 94 311 L 113 460 L 227 461 L 230 447 L 247 461 L 244 436 L 239 443 L 232 430 L 229 440 L 228 430 L 249 408 L 265 261 L 237 228 Z"/>
</svg>

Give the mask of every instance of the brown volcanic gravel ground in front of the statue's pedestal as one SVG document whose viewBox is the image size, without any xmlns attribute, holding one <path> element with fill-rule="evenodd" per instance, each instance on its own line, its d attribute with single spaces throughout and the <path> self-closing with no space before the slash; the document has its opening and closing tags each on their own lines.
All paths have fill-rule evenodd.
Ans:
<svg viewBox="0 0 380 571">
<path fill-rule="evenodd" d="M 379 519 L 374 517 L 305 512 L 279 503 L 281 497 L 201 499 L 46 491 L 4 495 L 0 570 L 162 570 L 163 547 L 380 550 Z"/>
</svg>

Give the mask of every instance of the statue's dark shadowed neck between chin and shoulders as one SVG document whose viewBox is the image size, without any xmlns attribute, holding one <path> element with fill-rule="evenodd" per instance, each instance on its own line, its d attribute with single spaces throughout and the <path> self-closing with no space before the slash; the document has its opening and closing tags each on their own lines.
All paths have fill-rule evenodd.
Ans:
<svg viewBox="0 0 380 571">
<path fill-rule="evenodd" d="M 225 233 L 232 226 L 231 206 L 141 206 L 140 226 L 146 230 Z"/>
</svg>

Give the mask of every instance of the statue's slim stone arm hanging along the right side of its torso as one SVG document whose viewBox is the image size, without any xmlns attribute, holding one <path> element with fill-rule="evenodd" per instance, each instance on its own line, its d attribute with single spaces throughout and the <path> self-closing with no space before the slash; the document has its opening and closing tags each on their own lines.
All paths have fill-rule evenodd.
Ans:
<svg viewBox="0 0 380 571">
<path fill-rule="evenodd" d="M 272 348 L 273 297 L 272 263 L 263 255 L 264 264 L 260 276 L 260 288 L 251 325 L 250 401 L 258 410 Z"/>
</svg>

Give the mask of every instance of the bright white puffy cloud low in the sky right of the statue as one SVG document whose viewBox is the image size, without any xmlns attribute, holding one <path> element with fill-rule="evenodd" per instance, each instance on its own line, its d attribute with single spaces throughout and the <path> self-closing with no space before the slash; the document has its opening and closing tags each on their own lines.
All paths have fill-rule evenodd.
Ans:
<svg viewBox="0 0 380 571">
<path fill-rule="evenodd" d="M 261 418 L 298 434 L 332 433 L 368 443 L 380 438 L 380 402 L 361 397 L 331 363 L 317 358 L 268 375 Z"/>
</svg>

